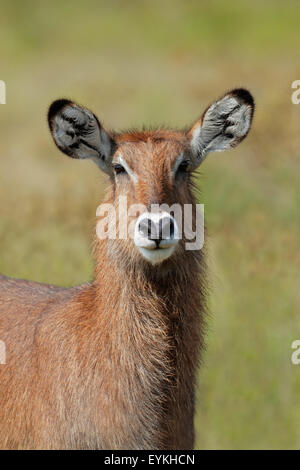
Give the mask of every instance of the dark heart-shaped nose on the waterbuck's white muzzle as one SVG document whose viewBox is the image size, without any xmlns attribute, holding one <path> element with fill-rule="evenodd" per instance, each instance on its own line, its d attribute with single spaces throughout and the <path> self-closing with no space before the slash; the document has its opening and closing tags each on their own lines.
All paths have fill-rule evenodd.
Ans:
<svg viewBox="0 0 300 470">
<path fill-rule="evenodd" d="M 139 232 L 145 238 L 155 241 L 159 246 L 161 240 L 174 238 L 174 220 L 172 217 L 162 217 L 154 221 L 145 217 L 139 223 Z"/>
</svg>

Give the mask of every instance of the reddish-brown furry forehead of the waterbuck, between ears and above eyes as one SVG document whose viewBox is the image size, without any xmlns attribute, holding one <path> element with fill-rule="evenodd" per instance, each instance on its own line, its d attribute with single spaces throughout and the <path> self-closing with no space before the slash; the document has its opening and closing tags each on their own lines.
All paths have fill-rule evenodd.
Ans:
<svg viewBox="0 0 300 470">
<path fill-rule="evenodd" d="M 187 148 L 186 136 L 180 131 L 125 132 L 115 136 L 121 154 L 135 169 L 148 165 L 170 167 Z"/>
</svg>

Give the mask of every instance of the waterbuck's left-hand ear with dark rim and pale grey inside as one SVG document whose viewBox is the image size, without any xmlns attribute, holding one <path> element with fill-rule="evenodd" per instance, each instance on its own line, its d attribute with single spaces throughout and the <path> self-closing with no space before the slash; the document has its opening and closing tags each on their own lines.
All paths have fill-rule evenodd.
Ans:
<svg viewBox="0 0 300 470">
<path fill-rule="evenodd" d="M 57 100 L 49 108 L 48 122 L 62 152 L 72 158 L 90 158 L 110 173 L 115 144 L 91 111 L 69 100 Z"/>
</svg>

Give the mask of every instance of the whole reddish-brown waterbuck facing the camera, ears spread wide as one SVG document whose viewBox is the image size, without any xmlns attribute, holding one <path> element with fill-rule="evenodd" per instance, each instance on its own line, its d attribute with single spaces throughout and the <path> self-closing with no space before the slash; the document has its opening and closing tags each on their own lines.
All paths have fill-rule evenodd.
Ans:
<svg viewBox="0 0 300 470">
<path fill-rule="evenodd" d="M 72 101 L 50 106 L 54 142 L 107 173 L 104 203 L 116 217 L 107 218 L 108 236 L 95 234 L 92 282 L 63 288 L 0 276 L 2 449 L 193 448 L 205 250 L 186 249 L 180 221 L 160 207 L 191 206 L 195 215 L 194 170 L 241 142 L 253 111 L 250 93 L 235 89 L 189 130 L 114 133 Z M 144 207 L 130 219 L 132 237 L 119 236 L 120 197 Z"/>
</svg>

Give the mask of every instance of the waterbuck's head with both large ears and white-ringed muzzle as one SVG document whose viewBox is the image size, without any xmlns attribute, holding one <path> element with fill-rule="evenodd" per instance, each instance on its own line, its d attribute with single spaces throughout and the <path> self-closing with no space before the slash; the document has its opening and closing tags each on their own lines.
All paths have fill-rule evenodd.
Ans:
<svg viewBox="0 0 300 470">
<path fill-rule="evenodd" d="M 113 210 L 106 231 L 111 252 L 157 265 L 183 253 L 189 230 L 195 237 L 193 172 L 210 152 L 235 147 L 246 137 L 253 111 L 250 93 L 235 89 L 183 131 L 108 132 L 91 111 L 65 99 L 50 106 L 48 118 L 62 152 L 93 160 L 110 177 L 104 209 L 109 211 L 110 203 Z M 189 206 L 192 218 L 185 219 Z"/>
</svg>

